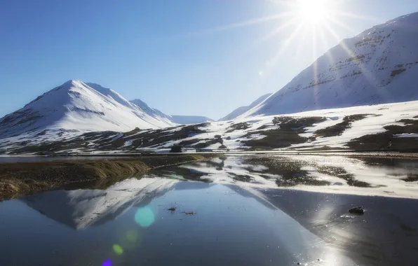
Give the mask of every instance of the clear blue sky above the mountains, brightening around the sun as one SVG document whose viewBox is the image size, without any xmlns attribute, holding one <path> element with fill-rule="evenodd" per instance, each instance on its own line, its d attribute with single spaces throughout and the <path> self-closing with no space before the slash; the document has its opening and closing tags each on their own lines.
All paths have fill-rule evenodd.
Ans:
<svg viewBox="0 0 418 266">
<path fill-rule="evenodd" d="M 416 11 L 417 0 L 0 0 L 0 116 L 77 79 L 218 119 L 342 38 Z"/>
</svg>

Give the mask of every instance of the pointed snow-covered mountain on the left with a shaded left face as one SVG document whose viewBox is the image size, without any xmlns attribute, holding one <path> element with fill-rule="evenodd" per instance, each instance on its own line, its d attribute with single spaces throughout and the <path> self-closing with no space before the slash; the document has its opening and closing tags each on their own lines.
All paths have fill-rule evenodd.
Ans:
<svg viewBox="0 0 418 266">
<path fill-rule="evenodd" d="M 175 125 L 163 116 L 149 116 L 114 90 L 69 80 L 0 119 L 0 137 L 41 130 L 119 131 Z"/>
</svg>

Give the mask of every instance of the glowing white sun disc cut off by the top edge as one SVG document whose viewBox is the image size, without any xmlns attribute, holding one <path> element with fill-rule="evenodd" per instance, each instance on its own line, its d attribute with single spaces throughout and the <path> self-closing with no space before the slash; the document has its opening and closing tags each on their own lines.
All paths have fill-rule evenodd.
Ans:
<svg viewBox="0 0 418 266">
<path fill-rule="evenodd" d="M 299 17 L 312 25 L 327 22 L 330 16 L 327 0 L 297 0 L 296 12 Z"/>
</svg>

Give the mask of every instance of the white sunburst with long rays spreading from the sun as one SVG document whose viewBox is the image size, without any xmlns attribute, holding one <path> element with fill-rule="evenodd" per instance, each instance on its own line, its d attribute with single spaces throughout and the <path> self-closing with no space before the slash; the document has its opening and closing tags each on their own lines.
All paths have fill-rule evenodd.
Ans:
<svg viewBox="0 0 418 266">
<path fill-rule="evenodd" d="M 268 0 L 273 3 L 273 7 L 277 8 L 278 12 L 273 15 L 268 15 L 262 18 L 255 18 L 241 22 L 234 22 L 229 25 L 222 25 L 202 31 L 196 31 L 187 35 L 200 34 L 215 34 L 219 31 L 234 30 L 242 27 L 250 27 L 253 25 L 273 24 L 273 28 L 267 31 L 267 34 L 260 36 L 252 41 L 246 43 L 243 48 L 245 53 L 257 50 L 261 45 L 271 41 L 271 39 L 280 35 L 280 43 L 277 51 L 269 59 L 267 69 L 261 69 L 259 73 L 263 73 L 264 78 L 267 78 L 269 72 L 272 72 L 275 64 L 278 64 L 281 56 L 292 48 L 292 53 L 297 57 L 299 54 L 304 54 L 302 50 L 311 50 L 312 62 L 318 57 L 319 53 L 323 53 L 323 48 L 326 50 L 342 41 L 342 36 L 339 36 L 339 29 L 351 36 L 358 32 L 351 29 L 351 25 L 347 23 L 350 20 L 377 20 L 376 18 L 363 17 L 358 14 L 350 13 L 344 8 L 344 5 L 349 4 L 349 0 Z M 276 23 L 276 27 L 274 27 Z M 305 42 L 306 40 L 306 42 Z M 322 48 L 322 49 L 320 49 Z M 350 51 L 344 43 L 342 48 L 350 57 L 353 52 Z M 326 51 L 325 50 L 325 51 Z M 330 61 L 332 55 L 328 53 Z M 361 68 L 361 66 L 360 66 Z M 316 79 L 316 77 L 315 77 Z"/>
</svg>

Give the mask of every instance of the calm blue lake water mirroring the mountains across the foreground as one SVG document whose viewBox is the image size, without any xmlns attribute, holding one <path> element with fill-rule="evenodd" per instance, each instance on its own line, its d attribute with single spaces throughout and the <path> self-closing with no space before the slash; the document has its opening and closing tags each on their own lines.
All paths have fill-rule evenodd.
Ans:
<svg viewBox="0 0 418 266">
<path fill-rule="evenodd" d="M 229 157 L 39 193 L 0 202 L 0 265 L 417 265 L 416 172 Z"/>
</svg>

